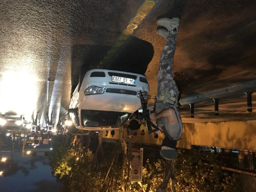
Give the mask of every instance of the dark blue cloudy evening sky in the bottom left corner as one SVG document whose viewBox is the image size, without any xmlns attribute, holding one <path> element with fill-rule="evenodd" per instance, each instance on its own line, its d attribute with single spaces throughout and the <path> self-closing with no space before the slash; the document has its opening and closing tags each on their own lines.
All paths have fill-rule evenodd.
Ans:
<svg viewBox="0 0 256 192">
<path fill-rule="evenodd" d="M 49 150 L 51 142 L 43 145 L 42 141 L 36 148 L 31 143 L 26 144 L 22 156 L 22 141 L 19 145 L 20 139 L 15 140 L 13 155 L 11 137 L 5 138 L 4 144 L 2 143 L 0 146 L 1 191 L 60 191 L 61 184 L 57 183 L 56 178 L 52 176 L 48 156 L 44 156 L 44 152 L 42 152 L 51 151 Z M 30 151 L 29 154 L 28 151 Z M 6 158 L 5 162 L 2 161 L 3 157 Z"/>
</svg>

